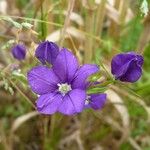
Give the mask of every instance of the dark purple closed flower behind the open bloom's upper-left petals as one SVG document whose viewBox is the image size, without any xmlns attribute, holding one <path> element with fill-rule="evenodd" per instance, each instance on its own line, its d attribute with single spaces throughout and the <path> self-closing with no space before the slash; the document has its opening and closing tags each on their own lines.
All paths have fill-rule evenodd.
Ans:
<svg viewBox="0 0 150 150">
<path fill-rule="evenodd" d="M 49 41 L 44 41 L 39 44 L 35 51 L 35 56 L 39 59 L 42 64 L 53 64 L 59 53 L 59 47 Z"/>
</svg>

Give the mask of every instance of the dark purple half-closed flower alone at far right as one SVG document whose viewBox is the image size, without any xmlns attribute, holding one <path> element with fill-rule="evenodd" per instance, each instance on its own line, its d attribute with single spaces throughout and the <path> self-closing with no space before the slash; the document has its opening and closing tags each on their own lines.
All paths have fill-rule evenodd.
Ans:
<svg viewBox="0 0 150 150">
<path fill-rule="evenodd" d="M 111 72 L 117 80 L 135 82 L 142 75 L 143 57 L 134 52 L 116 55 L 111 62 Z"/>
</svg>

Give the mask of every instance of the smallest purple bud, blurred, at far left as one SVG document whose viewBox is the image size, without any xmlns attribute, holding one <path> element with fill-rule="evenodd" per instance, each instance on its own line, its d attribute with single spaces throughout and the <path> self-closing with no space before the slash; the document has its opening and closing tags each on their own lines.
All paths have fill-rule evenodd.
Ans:
<svg viewBox="0 0 150 150">
<path fill-rule="evenodd" d="M 14 58 L 23 60 L 26 56 L 26 47 L 23 44 L 17 44 L 12 48 L 11 52 Z"/>
</svg>

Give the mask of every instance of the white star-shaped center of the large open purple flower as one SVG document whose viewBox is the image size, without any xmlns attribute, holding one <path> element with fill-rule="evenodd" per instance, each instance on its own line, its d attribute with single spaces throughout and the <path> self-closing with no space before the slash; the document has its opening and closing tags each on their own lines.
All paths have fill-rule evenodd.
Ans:
<svg viewBox="0 0 150 150">
<path fill-rule="evenodd" d="M 63 83 L 63 84 L 57 84 L 58 85 L 58 91 L 62 94 L 65 95 L 66 93 L 68 93 L 71 89 L 71 85 L 67 84 L 67 83 Z"/>
</svg>

